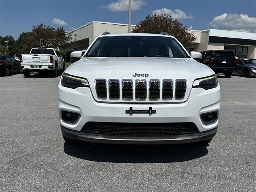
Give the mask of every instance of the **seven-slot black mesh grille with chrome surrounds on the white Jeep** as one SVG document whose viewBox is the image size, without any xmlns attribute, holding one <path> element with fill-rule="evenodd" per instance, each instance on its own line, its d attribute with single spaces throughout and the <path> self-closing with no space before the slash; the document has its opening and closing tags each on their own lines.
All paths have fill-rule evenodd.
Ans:
<svg viewBox="0 0 256 192">
<path fill-rule="evenodd" d="M 162 84 L 162 100 L 172 100 L 175 96 L 175 100 L 182 100 L 185 97 L 186 93 L 186 80 L 176 80 L 175 83 L 173 80 L 133 80 L 130 79 L 96 79 L 95 80 L 95 88 L 96 93 L 99 99 L 107 98 L 107 90 L 108 90 L 108 98 L 110 100 L 119 100 L 120 97 L 122 100 L 132 100 L 134 97 L 135 90 L 135 99 L 136 100 L 159 100 L 161 95 L 161 84 Z M 148 96 L 147 96 L 147 86 Z M 174 90 L 175 86 L 175 90 Z M 121 87 L 121 88 L 120 88 Z M 121 93 L 120 93 L 121 92 Z M 173 96 L 174 95 L 174 96 Z"/>
</svg>

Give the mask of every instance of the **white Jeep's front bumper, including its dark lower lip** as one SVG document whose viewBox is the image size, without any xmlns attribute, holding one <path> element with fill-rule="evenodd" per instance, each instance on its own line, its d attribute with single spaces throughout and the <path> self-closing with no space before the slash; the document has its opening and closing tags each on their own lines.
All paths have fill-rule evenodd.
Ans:
<svg viewBox="0 0 256 192">
<path fill-rule="evenodd" d="M 220 86 L 210 90 L 192 88 L 188 99 L 184 103 L 100 103 L 92 96 L 90 88 L 78 87 L 70 89 L 59 84 L 58 89 L 59 116 L 61 111 L 80 114 L 75 124 L 64 122 L 60 118 L 62 133 L 67 138 L 88 142 L 122 143 L 122 144 L 172 144 L 197 142 L 212 138 L 217 131 L 218 119 L 212 124 L 204 124 L 201 114 L 220 112 Z M 156 114 L 126 114 L 126 110 L 156 110 Z M 82 132 L 87 122 L 115 122 L 115 123 L 180 123 L 192 122 L 198 133 L 182 134 L 177 138 L 106 138 L 97 134 Z"/>
</svg>

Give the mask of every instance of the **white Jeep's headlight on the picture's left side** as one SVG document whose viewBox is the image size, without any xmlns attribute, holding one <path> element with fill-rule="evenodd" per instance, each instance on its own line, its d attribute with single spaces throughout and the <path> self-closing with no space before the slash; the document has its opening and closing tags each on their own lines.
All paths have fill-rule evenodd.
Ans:
<svg viewBox="0 0 256 192">
<path fill-rule="evenodd" d="M 87 79 L 68 75 L 66 73 L 63 73 L 62 75 L 61 85 L 72 89 L 78 87 L 90 87 Z"/>
</svg>

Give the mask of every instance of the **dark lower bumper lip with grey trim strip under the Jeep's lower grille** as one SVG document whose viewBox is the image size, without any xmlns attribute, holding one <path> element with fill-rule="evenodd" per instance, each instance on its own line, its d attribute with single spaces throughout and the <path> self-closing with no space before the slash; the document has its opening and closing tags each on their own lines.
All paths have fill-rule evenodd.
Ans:
<svg viewBox="0 0 256 192">
<path fill-rule="evenodd" d="M 74 131 L 60 126 L 62 134 L 70 139 L 93 142 L 93 143 L 108 143 L 108 144 L 185 144 L 208 140 L 215 136 L 217 127 L 211 130 L 179 135 L 176 138 L 106 138 L 101 135 L 88 134 L 80 131 Z"/>
</svg>

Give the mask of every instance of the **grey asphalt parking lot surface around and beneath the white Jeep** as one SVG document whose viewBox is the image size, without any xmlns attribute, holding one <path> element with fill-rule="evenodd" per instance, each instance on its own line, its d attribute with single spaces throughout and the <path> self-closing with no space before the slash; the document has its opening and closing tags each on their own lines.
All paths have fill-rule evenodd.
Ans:
<svg viewBox="0 0 256 192">
<path fill-rule="evenodd" d="M 0 191 L 256 191 L 256 78 L 218 75 L 209 146 L 64 142 L 57 78 L 0 77 Z"/>
</svg>

